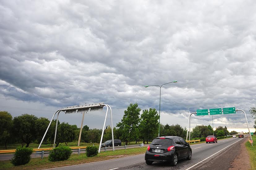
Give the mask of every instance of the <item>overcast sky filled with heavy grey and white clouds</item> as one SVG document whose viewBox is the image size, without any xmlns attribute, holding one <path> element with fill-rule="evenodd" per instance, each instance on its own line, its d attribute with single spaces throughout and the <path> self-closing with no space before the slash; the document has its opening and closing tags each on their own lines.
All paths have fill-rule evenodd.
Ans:
<svg viewBox="0 0 256 170">
<path fill-rule="evenodd" d="M 197 109 L 249 109 L 256 101 L 255 1 L 0 2 L 0 110 L 51 118 L 59 108 L 104 102 L 114 126 L 130 103 L 188 124 Z M 84 125 L 102 128 L 106 107 Z M 81 114 L 60 115 L 80 126 Z M 248 131 L 242 112 L 214 127 Z M 106 124 L 110 124 L 110 119 Z M 191 116 L 191 126 L 212 126 Z M 231 129 L 232 126 L 232 129 Z"/>
</svg>

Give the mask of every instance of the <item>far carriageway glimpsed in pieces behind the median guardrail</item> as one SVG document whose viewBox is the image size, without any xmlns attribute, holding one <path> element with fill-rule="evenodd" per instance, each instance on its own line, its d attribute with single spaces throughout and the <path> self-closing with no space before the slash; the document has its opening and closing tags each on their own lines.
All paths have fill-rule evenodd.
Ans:
<svg viewBox="0 0 256 170">
<path fill-rule="evenodd" d="M 149 144 L 144 144 L 145 146 L 148 146 Z M 139 145 L 127 145 L 126 148 L 135 148 L 135 147 L 140 147 Z M 115 146 L 115 150 L 119 149 L 124 149 L 124 145 L 122 146 Z M 101 148 L 101 152 L 104 152 L 105 148 Z M 107 147 L 107 151 L 112 151 L 112 147 Z M 81 149 L 80 153 L 85 153 L 85 149 Z M 73 154 L 78 154 L 78 150 L 73 150 Z M 45 151 L 44 157 L 49 155 L 49 151 Z M 13 154 L 0 154 L 0 160 L 10 160 L 13 157 Z M 32 158 L 41 158 L 41 155 L 36 155 L 36 153 L 32 153 L 31 155 Z"/>
</svg>

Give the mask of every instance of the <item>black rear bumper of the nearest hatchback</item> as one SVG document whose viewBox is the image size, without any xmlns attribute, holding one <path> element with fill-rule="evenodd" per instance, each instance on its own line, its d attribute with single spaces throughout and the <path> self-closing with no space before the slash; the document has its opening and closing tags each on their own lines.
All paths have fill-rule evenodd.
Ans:
<svg viewBox="0 0 256 170">
<path fill-rule="evenodd" d="M 173 157 L 173 151 L 165 152 L 165 153 L 151 153 L 146 151 L 145 160 L 150 161 L 158 161 L 158 162 L 166 162 L 171 161 Z"/>
</svg>

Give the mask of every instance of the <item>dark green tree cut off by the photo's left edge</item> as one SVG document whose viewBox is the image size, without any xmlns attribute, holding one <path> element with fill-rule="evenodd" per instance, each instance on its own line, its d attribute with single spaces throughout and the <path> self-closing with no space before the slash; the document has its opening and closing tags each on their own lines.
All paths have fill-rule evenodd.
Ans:
<svg viewBox="0 0 256 170">
<path fill-rule="evenodd" d="M 12 116 L 7 111 L 0 111 L 0 142 L 4 143 L 7 149 L 7 142 L 11 139 L 11 129 L 13 127 Z"/>
</svg>

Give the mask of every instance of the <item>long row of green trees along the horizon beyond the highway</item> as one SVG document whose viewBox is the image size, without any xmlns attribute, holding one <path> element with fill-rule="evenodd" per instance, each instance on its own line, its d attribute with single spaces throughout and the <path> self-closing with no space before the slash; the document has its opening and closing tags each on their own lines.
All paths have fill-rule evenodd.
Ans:
<svg viewBox="0 0 256 170">
<path fill-rule="evenodd" d="M 129 142 L 136 143 L 142 141 L 148 143 L 158 136 L 158 113 L 156 109 L 142 110 L 138 104 L 130 104 L 124 110 L 124 116 L 121 122 L 113 128 L 114 139 L 121 139 L 126 145 Z M 0 111 L 0 144 L 4 144 L 7 148 L 7 143 L 21 143 L 22 147 L 28 147 L 30 143 L 40 143 L 41 139 L 49 125 L 50 120 L 44 117 L 36 117 L 35 115 L 22 114 L 12 118 L 7 111 Z M 55 133 L 56 119 L 52 121 L 43 144 L 53 144 Z M 76 125 L 70 125 L 66 122 L 58 121 L 56 146 L 59 143 L 77 142 L 80 128 Z M 192 138 L 207 137 L 208 135 L 224 136 L 230 134 L 227 127 L 218 126 L 213 131 L 210 125 L 198 125 L 192 130 Z M 237 132 L 231 132 L 236 134 Z M 81 142 L 99 143 L 102 134 L 102 129 L 90 129 L 85 125 L 82 129 Z M 162 125 L 160 124 L 160 136 L 180 136 L 186 138 L 187 129 L 179 124 Z M 111 127 L 106 126 L 104 129 L 103 142 L 111 139 Z"/>
</svg>

